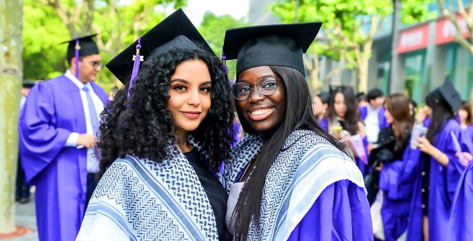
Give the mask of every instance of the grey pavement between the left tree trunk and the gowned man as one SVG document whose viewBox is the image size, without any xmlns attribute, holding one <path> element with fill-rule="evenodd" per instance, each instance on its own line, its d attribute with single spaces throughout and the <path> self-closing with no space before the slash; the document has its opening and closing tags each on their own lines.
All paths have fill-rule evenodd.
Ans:
<svg viewBox="0 0 473 241">
<path fill-rule="evenodd" d="M 20 237 L 7 238 L 0 240 L 9 241 L 38 241 L 38 231 L 36 229 L 36 216 L 35 216 L 35 194 L 31 193 L 31 200 L 28 203 L 15 202 L 15 224 L 20 226 L 26 226 L 32 229 L 30 233 L 27 233 Z"/>
</svg>

